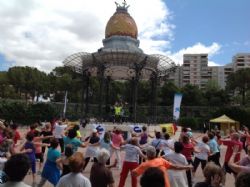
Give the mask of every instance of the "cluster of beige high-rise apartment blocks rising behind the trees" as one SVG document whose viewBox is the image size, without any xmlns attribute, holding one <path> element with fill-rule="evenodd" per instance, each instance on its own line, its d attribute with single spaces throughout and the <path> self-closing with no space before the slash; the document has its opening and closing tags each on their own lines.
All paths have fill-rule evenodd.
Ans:
<svg viewBox="0 0 250 187">
<path fill-rule="evenodd" d="M 250 68 L 250 53 L 238 53 L 232 58 L 232 63 L 224 66 L 208 66 L 208 54 L 184 54 L 182 66 L 177 66 L 168 80 L 178 87 L 192 84 L 201 89 L 209 80 L 214 80 L 225 89 L 227 76 L 242 68 Z"/>
</svg>

